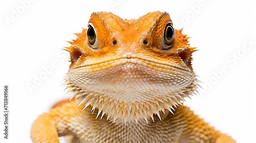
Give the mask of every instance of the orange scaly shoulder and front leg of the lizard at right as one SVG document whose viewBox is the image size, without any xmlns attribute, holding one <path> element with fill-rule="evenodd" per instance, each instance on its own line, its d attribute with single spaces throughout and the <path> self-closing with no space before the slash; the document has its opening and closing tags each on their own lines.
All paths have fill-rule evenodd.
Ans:
<svg viewBox="0 0 256 143">
<path fill-rule="evenodd" d="M 230 136 L 216 131 L 210 127 L 201 118 L 193 113 L 188 107 L 179 106 L 177 114 L 181 114 L 181 120 L 184 121 L 183 134 L 181 135 L 180 142 L 207 142 L 207 143 L 234 143 Z"/>
</svg>

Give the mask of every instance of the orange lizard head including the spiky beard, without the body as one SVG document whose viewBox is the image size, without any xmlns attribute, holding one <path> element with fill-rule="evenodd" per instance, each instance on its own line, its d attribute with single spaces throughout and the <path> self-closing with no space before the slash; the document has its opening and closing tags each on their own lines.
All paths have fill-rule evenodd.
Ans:
<svg viewBox="0 0 256 143">
<path fill-rule="evenodd" d="M 139 19 L 92 13 L 88 29 L 67 47 L 66 81 L 73 97 L 98 115 L 124 122 L 159 115 L 197 89 L 188 37 L 175 30 L 166 12 Z"/>
</svg>

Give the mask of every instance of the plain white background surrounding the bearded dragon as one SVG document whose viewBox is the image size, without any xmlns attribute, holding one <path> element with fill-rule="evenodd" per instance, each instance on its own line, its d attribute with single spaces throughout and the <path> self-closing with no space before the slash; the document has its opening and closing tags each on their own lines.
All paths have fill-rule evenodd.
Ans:
<svg viewBox="0 0 256 143">
<path fill-rule="evenodd" d="M 184 27 L 183 33 L 193 36 L 191 46 L 199 49 L 194 53 L 193 65 L 203 89 L 200 96 L 184 104 L 237 142 L 256 142 L 253 2 L 24 1 L 0 1 L 1 112 L 3 85 L 10 87 L 9 139 L 4 139 L 1 113 L 0 142 L 32 142 L 30 129 L 36 117 L 61 98 L 69 98 L 61 86 L 70 64 L 69 54 L 61 48 L 75 38 L 72 33 L 87 28 L 91 12 L 113 12 L 121 18 L 137 19 L 158 10 L 169 12 L 175 27 Z M 249 46 L 246 40 L 254 43 Z M 52 62 L 56 66 L 46 74 L 44 68 L 49 69 Z M 40 75 L 45 79 L 39 83 L 36 77 Z M 29 89 L 32 84 L 34 87 Z"/>
</svg>

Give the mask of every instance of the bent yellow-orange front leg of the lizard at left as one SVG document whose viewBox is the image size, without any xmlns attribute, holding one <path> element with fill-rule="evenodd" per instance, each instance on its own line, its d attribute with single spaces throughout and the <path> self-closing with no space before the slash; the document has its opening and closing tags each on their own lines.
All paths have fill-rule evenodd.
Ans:
<svg viewBox="0 0 256 143">
<path fill-rule="evenodd" d="M 58 136 L 73 134 L 69 131 L 67 124 L 71 117 L 75 117 L 81 112 L 75 101 L 63 103 L 40 115 L 33 123 L 31 138 L 33 142 L 59 142 Z"/>
</svg>

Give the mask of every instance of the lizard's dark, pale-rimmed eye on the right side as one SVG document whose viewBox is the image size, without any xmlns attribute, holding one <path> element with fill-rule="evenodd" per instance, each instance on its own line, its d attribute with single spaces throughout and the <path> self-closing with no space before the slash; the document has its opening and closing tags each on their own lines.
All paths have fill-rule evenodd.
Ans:
<svg viewBox="0 0 256 143">
<path fill-rule="evenodd" d="M 173 41 L 174 41 L 174 35 L 175 35 L 175 31 L 173 26 L 170 23 L 167 23 L 167 25 L 165 26 L 164 29 L 164 42 L 166 45 L 171 46 Z"/>
</svg>

